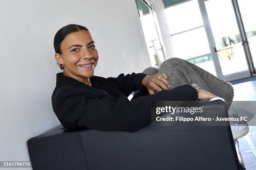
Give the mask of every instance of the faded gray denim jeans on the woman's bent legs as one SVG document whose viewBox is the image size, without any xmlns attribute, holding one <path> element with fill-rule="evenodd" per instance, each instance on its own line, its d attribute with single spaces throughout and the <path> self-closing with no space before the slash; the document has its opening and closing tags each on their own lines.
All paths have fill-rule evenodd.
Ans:
<svg viewBox="0 0 256 170">
<path fill-rule="evenodd" d="M 195 83 L 202 87 L 202 89 L 223 98 L 229 110 L 234 96 L 233 87 L 210 72 L 180 58 L 165 60 L 159 69 L 148 67 L 143 70 L 143 73 L 149 75 L 162 72 L 166 73 L 171 89 L 180 85 Z"/>
</svg>

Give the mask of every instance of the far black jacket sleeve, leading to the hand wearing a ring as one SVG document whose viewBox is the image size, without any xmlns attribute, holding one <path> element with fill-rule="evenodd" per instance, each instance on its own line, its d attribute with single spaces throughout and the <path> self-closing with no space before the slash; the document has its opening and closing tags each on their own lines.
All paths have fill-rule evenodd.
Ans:
<svg viewBox="0 0 256 170">
<path fill-rule="evenodd" d="M 108 80 L 111 80 L 118 84 L 120 89 L 123 89 L 125 95 L 130 95 L 131 92 L 136 90 L 147 91 L 147 87 L 142 85 L 142 80 L 147 74 L 144 73 L 135 73 L 124 75 L 123 73 L 118 75 L 118 77 L 108 77 Z"/>
</svg>

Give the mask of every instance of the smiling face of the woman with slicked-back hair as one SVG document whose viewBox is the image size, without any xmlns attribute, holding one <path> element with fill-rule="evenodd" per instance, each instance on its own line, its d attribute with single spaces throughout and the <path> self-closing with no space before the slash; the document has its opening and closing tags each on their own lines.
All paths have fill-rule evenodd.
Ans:
<svg viewBox="0 0 256 170">
<path fill-rule="evenodd" d="M 94 74 L 99 58 L 90 32 L 81 30 L 70 33 L 61 42 L 60 49 L 62 54 L 56 53 L 55 58 L 59 64 L 64 65 L 64 75 L 88 82 L 88 78 Z"/>
</svg>

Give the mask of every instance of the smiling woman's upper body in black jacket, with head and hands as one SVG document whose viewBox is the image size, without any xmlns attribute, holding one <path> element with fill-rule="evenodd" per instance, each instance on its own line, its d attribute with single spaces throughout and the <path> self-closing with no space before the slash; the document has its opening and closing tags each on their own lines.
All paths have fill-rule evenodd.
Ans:
<svg viewBox="0 0 256 170">
<path fill-rule="evenodd" d="M 135 132 L 150 123 L 154 100 L 217 97 L 202 88 L 197 90 L 196 85 L 177 86 L 176 83 L 177 87 L 172 87 L 166 74 L 173 74 L 174 69 L 153 75 L 134 72 L 108 78 L 94 75 L 99 55 L 90 32 L 81 25 L 61 28 L 54 37 L 54 49 L 63 72 L 56 75 L 51 99 L 64 128 L 78 125 L 103 131 Z M 140 92 L 129 101 L 127 96 L 137 90 Z"/>
</svg>

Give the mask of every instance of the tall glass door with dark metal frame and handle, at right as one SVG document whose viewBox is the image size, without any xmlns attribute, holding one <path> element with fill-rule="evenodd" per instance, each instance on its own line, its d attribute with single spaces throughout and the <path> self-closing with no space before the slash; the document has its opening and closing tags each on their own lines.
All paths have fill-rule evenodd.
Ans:
<svg viewBox="0 0 256 170">
<path fill-rule="evenodd" d="M 218 62 L 219 77 L 229 81 L 251 76 L 253 64 L 245 47 L 246 40 L 241 35 L 238 14 L 234 13 L 233 0 L 198 1 L 212 55 Z"/>
</svg>

